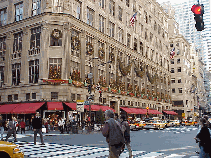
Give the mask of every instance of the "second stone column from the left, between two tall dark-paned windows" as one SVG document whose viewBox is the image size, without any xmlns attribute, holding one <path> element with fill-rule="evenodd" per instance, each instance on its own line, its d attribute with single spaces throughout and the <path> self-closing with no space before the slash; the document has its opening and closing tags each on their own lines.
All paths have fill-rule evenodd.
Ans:
<svg viewBox="0 0 211 158">
<path fill-rule="evenodd" d="M 30 30 L 28 27 L 23 28 L 23 50 L 21 53 L 21 75 L 20 85 L 29 83 L 29 62 L 28 50 L 30 49 Z"/>
</svg>

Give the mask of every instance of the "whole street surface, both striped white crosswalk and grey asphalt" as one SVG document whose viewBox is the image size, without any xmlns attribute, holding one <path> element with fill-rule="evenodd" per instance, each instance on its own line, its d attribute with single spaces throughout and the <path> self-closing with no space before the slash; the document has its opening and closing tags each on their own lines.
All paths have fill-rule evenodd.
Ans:
<svg viewBox="0 0 211 158">
<path fill-rule="evenodd" d="M 164 130 L 131 131 L 131 146 L 134 157 L 177 157 L 196 158 L 199 151 L 198 144 L 193 139 L 197 128 L 170 127 Z M 6 136 L 6 135 L 5 135 Z M 107 157 L 108 146 L 101 132 L 86 134 L 60 134 L 51 131 L 44 134 L 45 145 L 33 145 L 33 132 L 27 131 L 25 135 L 18 134 L 16 144 L 19 144 L 28 157 Z M 9 141 L 13 141 L 11 137 Z M 128 156 L 127 149 L 121 157 Z"/>
</svg>

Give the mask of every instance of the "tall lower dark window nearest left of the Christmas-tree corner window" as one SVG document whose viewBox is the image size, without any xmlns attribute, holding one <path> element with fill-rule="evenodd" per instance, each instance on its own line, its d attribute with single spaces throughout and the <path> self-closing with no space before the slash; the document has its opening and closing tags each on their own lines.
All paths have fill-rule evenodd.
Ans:
<svg viewBox="0 0 211 158">
<path fill-rule="evenodd" d="M 29 83 L 38 83 L 39 59 L 29 61 Z"/>
</svg>

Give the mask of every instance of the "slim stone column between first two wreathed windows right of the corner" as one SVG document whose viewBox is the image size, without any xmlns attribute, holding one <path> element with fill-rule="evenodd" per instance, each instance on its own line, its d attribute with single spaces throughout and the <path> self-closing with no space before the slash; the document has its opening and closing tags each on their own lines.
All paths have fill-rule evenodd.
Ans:
<svg viewBox="0 0 211 158">
<path fill-rule="evenodd" d="M 85 80 L 86 32 L 81 33 L 81 79 Z"/>
</svg>

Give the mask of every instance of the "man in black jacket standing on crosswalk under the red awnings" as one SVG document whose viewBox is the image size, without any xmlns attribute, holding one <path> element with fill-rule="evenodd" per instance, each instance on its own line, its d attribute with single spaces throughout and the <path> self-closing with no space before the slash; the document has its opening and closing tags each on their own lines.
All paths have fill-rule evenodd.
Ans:
<svg viewBox="0 0 211 158">
<path fill-rule="evenodd" d="M 32 120 L 32 127 L 34 130 L 34 145 L 36 145 L 37 133 L 40 135 L 42 145 L 45 145 L 42 135 L 42 119 L 40 118 L 39 112 L 36 113 L 35 118 Z"/>
</svg>

